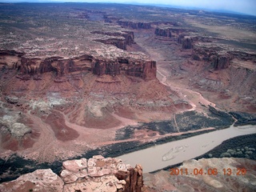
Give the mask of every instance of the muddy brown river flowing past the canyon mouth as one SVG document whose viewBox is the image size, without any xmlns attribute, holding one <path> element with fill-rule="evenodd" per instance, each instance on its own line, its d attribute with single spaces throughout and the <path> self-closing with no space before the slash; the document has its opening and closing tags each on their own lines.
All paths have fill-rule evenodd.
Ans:
<svg viewBox="0 0 256 192">
<path fill-rule="evenodd" d="M 129 154 L 118 156 L 122 162 L 131 166 L 141 164 L 143 172 L 148 173 L 172 166 L 190 158 L 205 154 L 229 138 L 246 134 L 255 134 L 256 126 L 230 126 L 225 130 L 216 130 L 207 134 L 200 134 L 175 142 L 168 142 L 152 146 L 145 150 L 138 150 Z"/>
</svg>

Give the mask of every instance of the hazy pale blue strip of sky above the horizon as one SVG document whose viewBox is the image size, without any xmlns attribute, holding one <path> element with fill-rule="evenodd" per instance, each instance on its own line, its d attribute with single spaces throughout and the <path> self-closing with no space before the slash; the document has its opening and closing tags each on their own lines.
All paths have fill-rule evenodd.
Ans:
<svg viewBox="0 0 256 192">
<path fill-rule="evenodd" d="M 32 2 L 33 0 L 0 0 L 0 2 Z M 34 0 L 43 2 L 44 0 Z M 52 2 L 121 2 L 151 3 L 173 6 L 197 7 L 208 10 L 230 10 L 239 13 L 256 15 L 256 0 L 46 0 Z"/>
</svg>

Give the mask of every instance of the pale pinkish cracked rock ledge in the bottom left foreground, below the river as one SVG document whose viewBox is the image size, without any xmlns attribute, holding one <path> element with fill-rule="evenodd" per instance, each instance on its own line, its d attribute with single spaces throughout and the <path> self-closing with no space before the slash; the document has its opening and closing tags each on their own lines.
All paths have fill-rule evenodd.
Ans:
<svg viewBox="0 0 256 192">
<path fill-rule="evenodd" d="M 81 158 L 62 163 L 59 176 L 50 169 L 35 170 L 0 185 L 0 191 L 143 191 L 142 166 L 117 158 Z"/>
</svg>

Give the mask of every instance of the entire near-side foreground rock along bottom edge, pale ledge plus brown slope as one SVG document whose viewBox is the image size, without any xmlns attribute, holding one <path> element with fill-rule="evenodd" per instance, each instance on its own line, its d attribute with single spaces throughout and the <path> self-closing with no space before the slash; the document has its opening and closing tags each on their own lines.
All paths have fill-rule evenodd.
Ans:
<svg viewBox="0 0 256 192">
<path fill-rule="evenodd" d="M 255 165 L 255 161 L 245 158 L 202 158 L 183 162 L 182 166 L 168 171 L 142 174 L 140 165 L 132 168 L 120 159 L 95 155 L 88 160 L 81 158 L 63 162 L 59 174 L 50 169 L 24 174 L 14 181 L 3 182 L 0 190 L 254 191 Z"/>
</svg>

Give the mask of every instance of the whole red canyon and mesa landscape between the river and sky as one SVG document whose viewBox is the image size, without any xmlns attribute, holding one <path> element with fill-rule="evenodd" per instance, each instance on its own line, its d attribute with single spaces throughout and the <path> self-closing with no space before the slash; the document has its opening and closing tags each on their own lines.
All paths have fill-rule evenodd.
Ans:
<svg viewBox="0 0 256 192">
<path fill-rule="evenodd" d="M 16 155 L 54 163 L 255 124 L 252 16 L 94 3 L 0 10 L 2 167 Z"/>
</svg>

